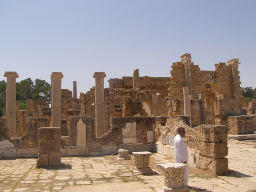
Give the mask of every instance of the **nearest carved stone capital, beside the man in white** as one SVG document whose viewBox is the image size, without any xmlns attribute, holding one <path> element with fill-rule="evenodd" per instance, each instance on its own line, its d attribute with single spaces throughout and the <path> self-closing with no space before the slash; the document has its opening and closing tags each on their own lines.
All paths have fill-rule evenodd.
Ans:
<svg viewBox="0 0 256 192">
<path fill-rule="evenodd" d="M 164 192 L 189 192 L 184 185 L 184 174 L 186 164 L 157 164 L 164 172 Z"/>
</svg>

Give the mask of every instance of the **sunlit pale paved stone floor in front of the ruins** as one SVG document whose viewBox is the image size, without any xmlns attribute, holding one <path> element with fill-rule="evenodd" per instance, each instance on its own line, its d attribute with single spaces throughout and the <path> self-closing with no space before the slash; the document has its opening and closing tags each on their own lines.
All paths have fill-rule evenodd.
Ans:
<svg viewBox="0 0 256 192">
<path fill-rule="evenodd" d="M 190 173 L 190 192 L 256 192 L 256 149 L 253 142 L 228 141 L 229 174 L 211 176 Z M 133 175 L 134 160 L 117 156 L 63 157 L 62 166 L 36 168 L 36 159 L 1 159 L 2 192 L 159 192 L 163 190 L 159 163 L 174 162 L 160 154 L 150 157 L 155 172 Z"/>
</svg>

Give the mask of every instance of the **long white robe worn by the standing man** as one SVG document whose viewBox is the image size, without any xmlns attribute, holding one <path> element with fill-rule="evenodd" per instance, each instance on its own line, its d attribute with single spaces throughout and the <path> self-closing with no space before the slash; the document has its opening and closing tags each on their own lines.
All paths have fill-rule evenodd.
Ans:
<svg viewBox="0 0 256 192">
<path fill-rule="evenodd" d="M 174 137 L 174 157 L 175 163 L 184 163 L 187 161 L 184 175 L 184 185 L 188 183 L 188 152 L 187 145 L 179 134 Z"/>
</svg>

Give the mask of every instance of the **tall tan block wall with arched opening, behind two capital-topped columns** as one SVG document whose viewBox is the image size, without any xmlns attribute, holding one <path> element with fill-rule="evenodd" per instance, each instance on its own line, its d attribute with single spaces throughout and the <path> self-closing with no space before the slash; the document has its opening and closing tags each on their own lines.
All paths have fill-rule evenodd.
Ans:
<svg viewBox="0 0 256 192">
<path fill-rule="evenodd" d="M 168 98 L 180 100 L 183 99 L 183 87 L 186 86 L 185 66 L 182 62 L 175 62 L 171 67 Z M 215 71 L 201 71 L 198 65 L 191 62 L 190 71 L 192 94 L 206 95 L 207 107 L 213 107 L 213 95 L 216 99 L 221 94 L 234 94 L 232 67 L 230 65 L 219 63 L 215 64 Z M 240 81 L 239 85 L 241 85 Z M 248 107 L 248 102 L 244 99 L 241 90 L 239 96 L 242 106 Z"/>
</svg>

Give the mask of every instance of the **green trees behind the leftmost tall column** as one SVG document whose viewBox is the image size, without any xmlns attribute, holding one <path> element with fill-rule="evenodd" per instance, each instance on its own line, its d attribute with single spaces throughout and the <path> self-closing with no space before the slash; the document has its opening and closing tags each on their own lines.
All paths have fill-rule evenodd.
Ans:
<svg viewBox="0 0 256 192">
<path fill-rule="evenodd" d="M 16 100 L 20 102 L 20 109 L 26 109 L 26 100 L 43 99 L 50 104 L 51 85 L 45 80 L 36 79 L 35 83 L 31 78 L 16 83 Z M 0 81 L 0 116 L 5 114 L 6 106 L 6 82 Z"/>
</svg>

